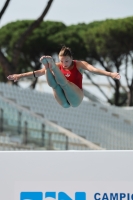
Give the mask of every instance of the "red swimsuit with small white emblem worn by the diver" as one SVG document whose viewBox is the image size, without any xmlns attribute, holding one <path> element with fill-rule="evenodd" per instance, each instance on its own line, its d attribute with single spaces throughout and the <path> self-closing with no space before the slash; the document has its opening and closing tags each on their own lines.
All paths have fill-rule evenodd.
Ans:
<svg viewBox="0 0 133 200">
<path fill-rule="evenodd" d="M 78 71 L 76 67 L 76 61 L 73 60 L 74 66 L 71 70 L 66 70 L 60 65 L 60 70 L 62 74 L 66 77 L 67 80 L 77 85 L 80 89 L 82 89 L 82 74 Z"/>
</svg>

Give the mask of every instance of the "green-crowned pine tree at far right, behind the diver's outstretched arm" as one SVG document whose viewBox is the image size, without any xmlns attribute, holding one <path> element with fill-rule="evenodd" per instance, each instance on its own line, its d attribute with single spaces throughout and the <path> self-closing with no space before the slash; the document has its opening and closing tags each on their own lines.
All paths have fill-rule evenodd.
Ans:
<svg viewBox="0 0 133 200">
<path fill-rule="evenodd" d="M 121 106 L 127 101 L 129 95 L 125 95 L 124 99 L 121 98 L 122 91 L 122 93 L 130 93 L 128 101 L 129 105 L 133 106 L 133 74 L 130 74 L 130 78 L 127 74 L 127 70 L 132 71 L 133 67 L 133 17 L 106 20 L 93 28 L 88 28 L 83 38 L 88 50 L 88 60 L 92 64 L 99 63 L 107 71 L 120 73 L 123 73 L 124 66 L 128 89 L 121 81 L 112 82 L 110 79 L 108 81 L 115 90 L 114 104 Z M 86 75 L 91 79 L 88 73 Z M 107 95 L 103 91 L 102 93 L 110 102 Z"/>
</svg>

